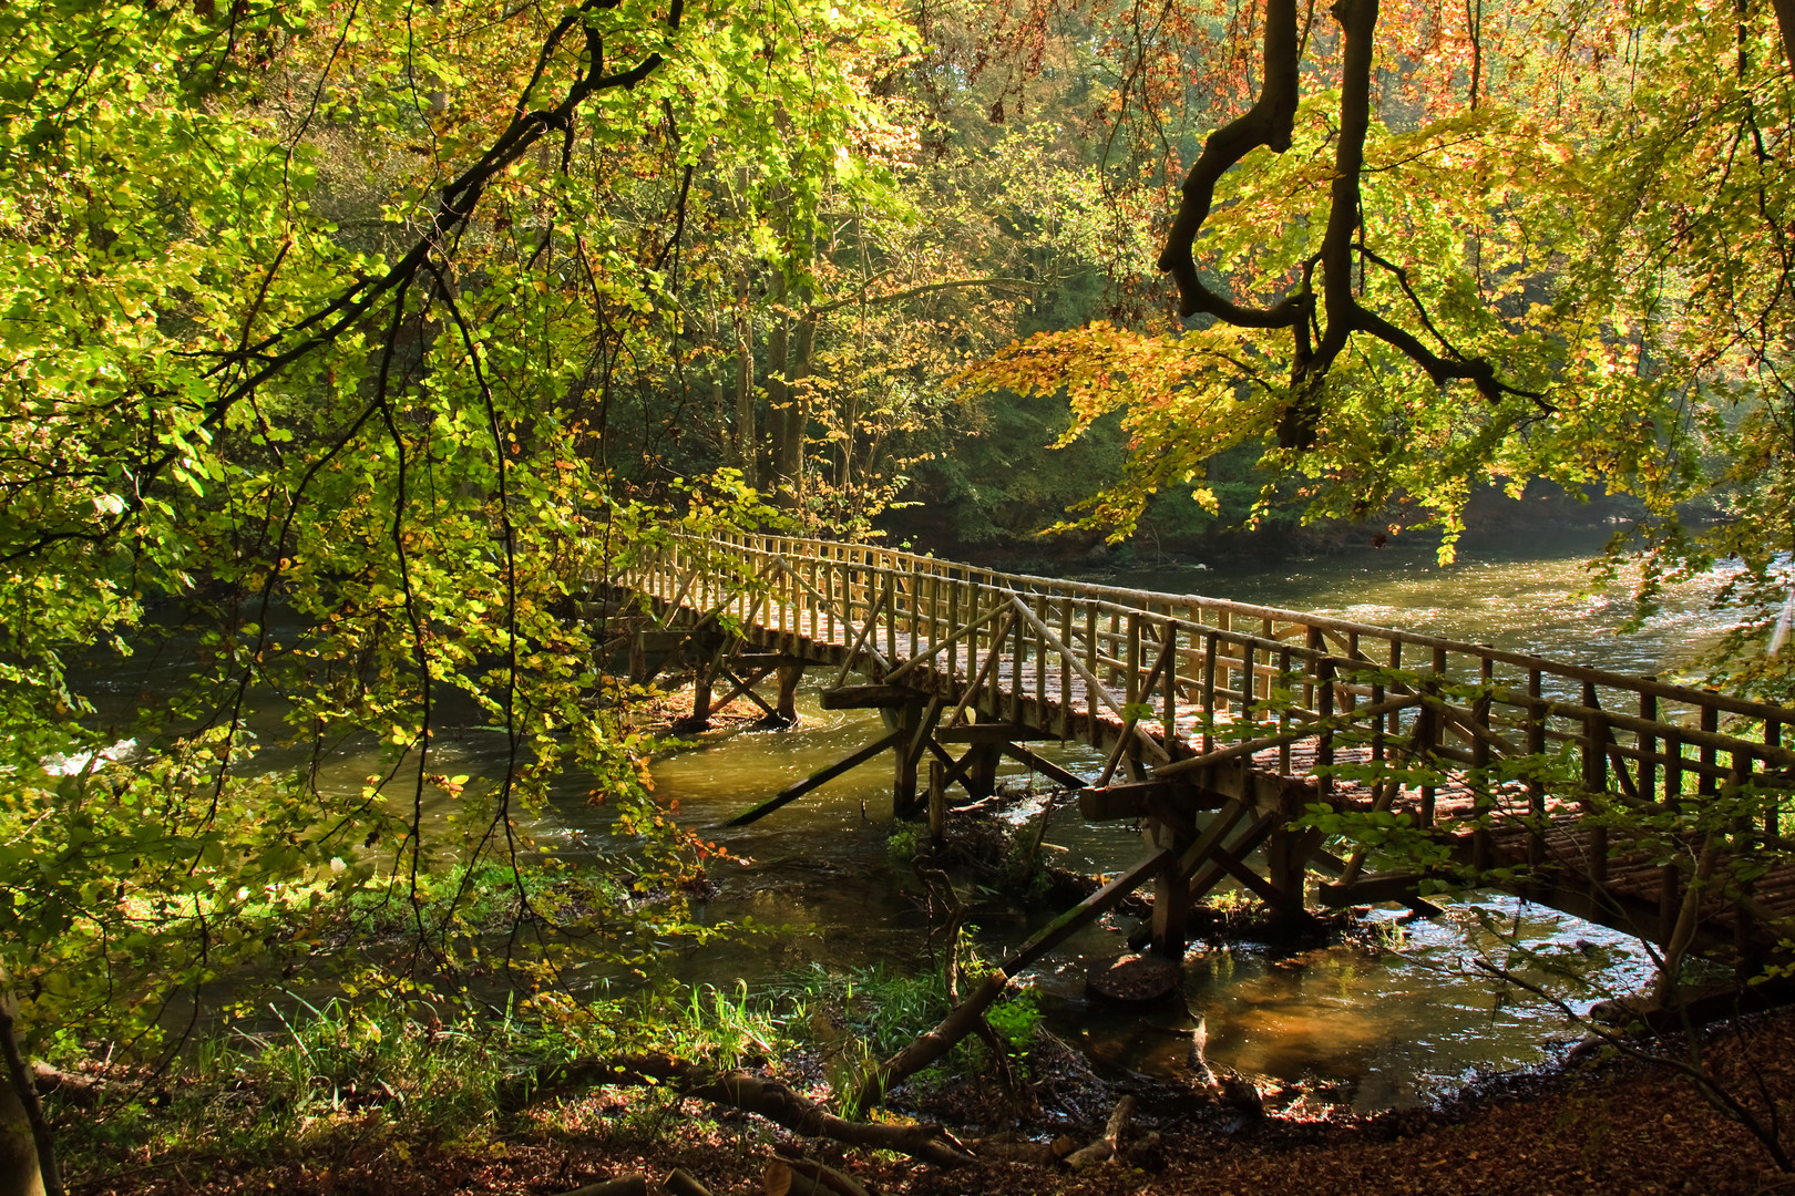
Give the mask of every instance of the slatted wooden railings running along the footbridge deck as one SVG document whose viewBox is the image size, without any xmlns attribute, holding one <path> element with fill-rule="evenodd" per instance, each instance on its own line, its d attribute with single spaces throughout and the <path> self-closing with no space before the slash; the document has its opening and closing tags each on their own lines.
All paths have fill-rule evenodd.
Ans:
<svg viewBox="0 0 1795 1196">
<path fill-rule="evenodd" d="M 671 534 L 610 581 L 763 640 L 842 646 L 844 678 L 921 671 L 910 680 L 944 683 L 955 719 L 978 705 L 1113 742 L 1102 782 L 1124 755 L 1170 776 L 1271 750 L 1291 771 L 1303 750 L 1327 785 L 1334 748 L 1350 741 L 1368 748 L 1371 773 L 1420 766 L 1423 825 L 1440 776 L 1456 769 L 1481 778 L 1483 807 L 1497 791 L 1524 791 L 1538 814 L 1549 791 L 1635 807 L 1743 793 L 1750 825 L 1730 828 L 1738 841 L 1781 845 L 1786 832 L 1795 751 L 1782 735 L 1795 710 L 1716 690 L 1327 615 L 790 536 Z"/>
</svg>

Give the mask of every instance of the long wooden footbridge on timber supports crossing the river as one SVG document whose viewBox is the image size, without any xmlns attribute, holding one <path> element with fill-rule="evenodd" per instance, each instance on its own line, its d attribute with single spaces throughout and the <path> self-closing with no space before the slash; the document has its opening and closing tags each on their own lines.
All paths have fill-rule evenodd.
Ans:
<svg viewBox="0 0 1795 1196">
<path fill-rule="evenodd" d="M 1323 615 L 786 536 L 666 534 L 589 585 L 637 611 L 637 678 L 679 654 L 696 665 L 693 724 L 743 696 L 790 721 L 813 667 L 833 671 L 824 706 L 885 714 L 883 735 L 734 825 L 889 757 L 896 814 L 928 809 L 939 827 L 948 789 L 989 796 L 1003 755 L 1079 789 L 1086 819 L 1138 823 L 1147 859 L 1057 920 L 1059 938 L 1145 884 L 1154 950 L 1176 956 L 1192 902 L 1228 880 L 1303 918 L 1309 902 L 1425 906 L 1432 880 L 1475 875 L 1678 956 L 1745 970 L 1788 956 L 1790 708 Z M 774 678 L 770 701 L 756 687 Z M 1106 762 L 1077 776 L 1038 741 L 1091 744 Z M 1334 828 L 1361 846 L 1335 854 Z M 1379 843 L 1411 862 L 1380 868 L 1398 854 Z"/>
</svg>

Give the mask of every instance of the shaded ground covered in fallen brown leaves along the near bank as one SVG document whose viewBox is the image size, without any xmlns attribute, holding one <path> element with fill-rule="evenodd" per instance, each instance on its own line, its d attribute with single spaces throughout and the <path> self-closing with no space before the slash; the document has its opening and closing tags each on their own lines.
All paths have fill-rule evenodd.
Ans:
<svg viewBox="0 0 1795 1196">
<path fill-rule="evenodd" d="M 1759 1115 L 1773 1110 L 1784 1124 L 1795 1117 L 1795 1011 L 1716 1029 L 1702 1049 L 1712 1074 Z M 757 1117 L 698 1101 L 600 1088 L 456 1142 L 398 1135 L 377 1115 L 352 1114 L 312 1126 L 291 1149 L 257 1157 L 176 1149 L 135 1166 L 92 1160 L 99 1166 L 77 1166 L 68 1187 L 72 1196 L 546 1196 L 630 1173 L 648 1174 L 653 1192 L 680 1167 L 716 1196 L 747 1196 L 770 1191 L 766 1167 L 784 1151 L 838 1167 L 872 1192 L 906 1196 L 1795 1192 L 1795 1176 L 1779 1173 L 1757 1140 L 1662 1063 L 1585 1058 L 1499 1078 L 1429 1110 L 1314 1117 L 1296 1101 L 1249 1117 L 1138 1076 L 1099 1079 L 1072 1054 L 1038 1054 L 1034 1079 L 1007 1106 L 1012 1114 L 1032 1108 L 1034 1130 L 1057 1117 L 1057 1131 L 1090 1140 L 1102 1133 L 1108 1103 L 1133 1092 L 1140 1105 L 1124 1148 L 1133 1142 L 1134 1149 L 1079 1173 L 1002 1162 L 941 1169 L 793 1139 Z M 978 1131 L 989 1133 L 993 1110 L 1003 1105 L 994 1087 L 993 1079 L 937 1092 L 914 1112 L 968 1124 L 955 1121 L 959 1110 L 968 1121 L 984 1119 Z M 1055 1115 L 1043 1121 L 1043 1106 Z M 792 1191 L 802 1187 L 801 1180 Z"/>
</svg>

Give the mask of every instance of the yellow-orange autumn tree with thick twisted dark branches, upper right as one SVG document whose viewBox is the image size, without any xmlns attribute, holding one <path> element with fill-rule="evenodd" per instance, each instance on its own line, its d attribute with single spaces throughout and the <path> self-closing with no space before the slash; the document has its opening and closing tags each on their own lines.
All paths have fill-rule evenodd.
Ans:
<svg viewBox="0 0 1795 1196">
<path fill-rule="evenodd" d="M 1761 651 L 1791 547 L 1788 5 L 1122 13 L 1122 134 L 1151 149 L 1188 97 L 1212 127 L 1160 140 L 1167 310 L 968 373 L 1070 394 L 1070 438 L 1122 412 L 1134 452 L 1081 522 L 1212 502 L 1204 461 L 1262 438 L 1267 502 L 1414 504 L 1447 554 L 1477 482 L 1608 488 L 1646 513 L 1648 602 L 1747 559 Z M 1725 518 L 1689 527 L 1693 502 Z"/>
</svg>

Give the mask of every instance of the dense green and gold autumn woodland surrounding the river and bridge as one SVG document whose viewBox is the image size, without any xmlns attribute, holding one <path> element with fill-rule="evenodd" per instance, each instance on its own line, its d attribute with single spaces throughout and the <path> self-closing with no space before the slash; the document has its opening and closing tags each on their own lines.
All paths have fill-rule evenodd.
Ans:
<svg viewBox="0 0 1795 1196">
<path fill-rule="evenodd" d="M 569 611 L 673 522 L 1450 554 L 1612 497 L 1641 610 L 1736 561 L 1709 680 L 1795 696 L 1791 0 L 11 0 L 0 151 L 5 1191 L 34 1060 L 167 1076 L 233 975 L 664 1045 L 565 941 L 488 966 L 470 879 L 644 992 L 716 932 Z M 542 879 L 565 769 L 626 866 Z"/>
</svg>

